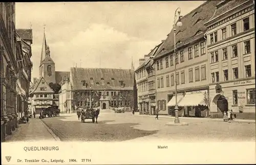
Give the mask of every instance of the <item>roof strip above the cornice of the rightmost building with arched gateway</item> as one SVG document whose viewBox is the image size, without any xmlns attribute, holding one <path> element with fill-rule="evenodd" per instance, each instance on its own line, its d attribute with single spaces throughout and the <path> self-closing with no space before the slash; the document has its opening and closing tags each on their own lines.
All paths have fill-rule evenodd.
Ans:
<svg viewBox="0 0 256 165">
<path fill-rule="evenodd" d="M 245 2 L 249 2 L 251 0 L 232 0 L 232 1 L 221 1 L 221 3 L 217 4 L 217 9 L 215 11 L 215 14 L 214 16 L 212 16 L 212 18 L 209 20 L 213 20 L 215 19 L 216 17 L 222 15 L 223 13 L 239 6 L 239 5 L 242 5 L 243 3 Z M 252 3 L 252 1 L 251 1 Z"/>
</svg>

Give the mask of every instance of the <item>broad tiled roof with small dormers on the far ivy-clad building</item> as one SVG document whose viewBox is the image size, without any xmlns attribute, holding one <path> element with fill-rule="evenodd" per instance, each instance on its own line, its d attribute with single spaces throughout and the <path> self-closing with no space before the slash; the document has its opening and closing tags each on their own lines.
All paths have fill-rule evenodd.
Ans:
<svg viewBox="0 0 256 165">
<path fill-rule="evenodd" d="M 71 68 L 70 70 L 73 90 L 87 90 L 90 85 L 93 90 L 133 90 L 134 71 L 132 69 Z M 88 86 L 82 86 L 83 80 Z M 120 80 L 123 80 L 124 87 L 120 86 Z"/>
</svg>

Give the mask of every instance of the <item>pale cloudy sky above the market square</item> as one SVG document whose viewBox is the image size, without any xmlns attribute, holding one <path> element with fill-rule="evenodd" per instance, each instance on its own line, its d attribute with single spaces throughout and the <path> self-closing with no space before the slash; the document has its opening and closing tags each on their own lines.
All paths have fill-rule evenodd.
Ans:
<svg viewBox="0 0 256 165">
<path fill-rule="evenodd" d="M 184 16 L 203 2 L 16 3 L 15 26 L 33 30 L 32 77 L 39 76 L 44 27 L 56 71 L 131 69 L 132 59 L 137 68 L 166 39 L 178 7 Z"/>
</svg>

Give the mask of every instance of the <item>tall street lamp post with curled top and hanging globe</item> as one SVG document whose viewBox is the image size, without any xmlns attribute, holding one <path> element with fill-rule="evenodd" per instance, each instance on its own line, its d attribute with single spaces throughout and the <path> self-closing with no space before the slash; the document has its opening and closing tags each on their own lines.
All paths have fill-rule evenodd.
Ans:
<svg viewBox="0 0 256 165">
<path fill-rule="evenodd" d="M 177 8 L 176 11 L 175 11 L 175 16 L 174 16 L 174 55 L 175 55 L 175 60 L 174 60 L 174 70 L 175 70 L 175 120 L 174 120 L 174 123 L 178 124 L 180 123 L 180 120 L 179 120 L 179 107 L 178 107 L 178 100 L 177 100 L 177 74 L 176 74 L 176 60 L 177 60 L 177 56 L 178 54 L 176 53 L 176 25 L 178 27 L 181 27 L 182 26 L 182 22 L 180 21 L 180 15 L 181 13 L 181 9 L 180 8 Z M 178 18 L 178 22 L 177 22 L 177 18 Z M 177 22 L 177 24 L 176 24 Z"/>
</svg>

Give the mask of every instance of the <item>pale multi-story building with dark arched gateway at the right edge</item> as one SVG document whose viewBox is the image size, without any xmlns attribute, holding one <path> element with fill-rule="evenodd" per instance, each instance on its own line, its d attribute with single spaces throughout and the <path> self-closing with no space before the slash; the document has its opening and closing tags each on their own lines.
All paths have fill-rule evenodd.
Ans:
<svg viewBox="0 0 256 165">
<path fill-rule="evenodd" d="M 253 1 L 222 1 L 208 20 L 208 79 L 212 117 L 232 109 L 255 119 L 255 27 Z"/>
</svg>

